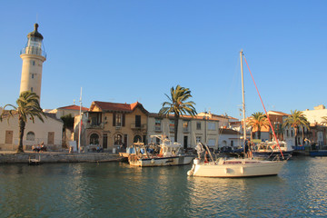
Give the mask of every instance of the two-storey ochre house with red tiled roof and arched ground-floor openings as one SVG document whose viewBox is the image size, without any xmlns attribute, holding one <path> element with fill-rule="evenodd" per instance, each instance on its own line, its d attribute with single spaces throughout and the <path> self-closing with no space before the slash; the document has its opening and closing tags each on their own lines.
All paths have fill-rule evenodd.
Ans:
<svg viewBox="0 0 327 218">
<path fill-rule="evenodd" d="M 81 146 L 95 145 L 113 150 L 134 142 L 146 143 L 148 114 L 138 102 L 117 104 L 95 101 L 83 116 Z M 78 129 L 78 124 L 77 120 L 75 129 Z M 75 139 L 78 140 L 77 134 Z"/>
</svg>

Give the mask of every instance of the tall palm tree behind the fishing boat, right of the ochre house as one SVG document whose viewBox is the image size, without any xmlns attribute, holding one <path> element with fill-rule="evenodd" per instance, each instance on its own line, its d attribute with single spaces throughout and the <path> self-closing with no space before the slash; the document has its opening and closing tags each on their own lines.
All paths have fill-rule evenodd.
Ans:
<svg viewBox="0 0 327 218">
<path fill-rule="evenodd" d="M 188 88 L 184 88 L 179 84 L 176 85 L 176 88 L 171 88 L 171 96 L 165 94 L 169 102 L 164 102 L 163 107 L 159 111 L 159 115 L 174 114 L 174 141 L 177 142 L 177 129 L 178 129 L 178 120 L 179 117 L 183 114 L 190 114 L 191 116 L 196 115 L 196 110 L 192 101 L 186 102 L 191 95 L 191 91 Z"/>
</svg>

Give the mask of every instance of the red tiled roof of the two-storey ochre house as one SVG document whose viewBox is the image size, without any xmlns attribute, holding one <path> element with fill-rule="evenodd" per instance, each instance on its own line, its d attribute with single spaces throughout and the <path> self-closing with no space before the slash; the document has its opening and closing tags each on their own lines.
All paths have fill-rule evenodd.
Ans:
<svg viewBox="0 0 327 218">
<path fill-rule="evenodd" d="M 148 112 L 144 109 L 144 106 L 139 103 L 135 102 L 133 104 L 121 104 L 121 103 L 109 103 L 109 102 L 98 102 L 95 101 L 93 102 L 93 105 L 98 106 L 101 110 L 103 111 L 108 111 L 108 112 L 126 112 L 126 113 L 132 113 L 136 107 L 140 107 L 141 110 L 145 113 L 148 114 Z M 91 105 L 91 109 L 93 106 Z"/>
</svg>

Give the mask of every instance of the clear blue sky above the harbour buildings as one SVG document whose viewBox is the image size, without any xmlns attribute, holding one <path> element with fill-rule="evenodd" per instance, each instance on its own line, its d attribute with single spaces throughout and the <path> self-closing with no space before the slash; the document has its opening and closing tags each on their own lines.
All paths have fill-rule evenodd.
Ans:
<svg viewBox="0 0 327 218">
<path fill-rule="evenodd" d="M 26 35 L 39 24 L 47 60 L 41 105 L 80 96 L 157 113 L 177 84 L 196 110 L 241 118 L 243 49 L 267 110 L 326 104 L 327 1 L 2 1 L 0 105 L 19 95 Z M 247 115 L 263 111 L 244 64 Z"/>
</svg>

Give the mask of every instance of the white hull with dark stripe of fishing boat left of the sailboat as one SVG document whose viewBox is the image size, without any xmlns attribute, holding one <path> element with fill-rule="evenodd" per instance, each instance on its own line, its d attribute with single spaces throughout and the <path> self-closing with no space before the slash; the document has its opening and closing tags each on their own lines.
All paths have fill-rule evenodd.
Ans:
<svg viewBox="0 0 327 218">
<path fill-rule="evenodd" d="M 180 155 L 171 157 L 154 157 L 154 158 L 129 158 L 130 165 L 133 166 L 169 166 L 185 165 L 192 162 L 194 155 Z"/>
</svg>

